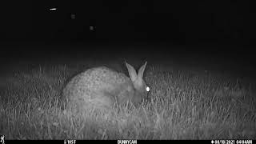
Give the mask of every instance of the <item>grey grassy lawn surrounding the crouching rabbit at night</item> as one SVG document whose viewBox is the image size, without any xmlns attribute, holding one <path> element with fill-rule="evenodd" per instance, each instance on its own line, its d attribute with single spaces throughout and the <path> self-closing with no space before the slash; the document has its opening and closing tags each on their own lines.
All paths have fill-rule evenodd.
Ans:
<svg viewBox="0 0 256 144">
<path fill-rule="evenodd" d="M 256 138 L 254 85 L 200 70 L 148 66 L 150 99 L 114 112 L 62 110 L 62 87 L 76 66 L 34 66 L 0 84 L 0 134 L 6 139 Z"/>
</svg>

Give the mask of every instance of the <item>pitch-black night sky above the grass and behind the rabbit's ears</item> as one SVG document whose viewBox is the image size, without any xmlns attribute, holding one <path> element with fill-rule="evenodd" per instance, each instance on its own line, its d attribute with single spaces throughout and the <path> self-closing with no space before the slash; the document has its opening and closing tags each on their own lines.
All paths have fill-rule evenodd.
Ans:
<svg viewBox="0 0 256 144">
<path fill-rule="evenodd" d="M 254 19 L 252 4 L 243 0 L 6 1 L 2 58 L 122 54 L 253 67 Z"/>
</svg>

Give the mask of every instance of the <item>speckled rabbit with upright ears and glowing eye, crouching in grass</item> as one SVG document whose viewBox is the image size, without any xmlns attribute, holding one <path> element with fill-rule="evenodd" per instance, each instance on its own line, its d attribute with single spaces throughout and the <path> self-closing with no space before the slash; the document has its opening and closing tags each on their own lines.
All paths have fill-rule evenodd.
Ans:
<svg viewBox="0 0 256 144">
<path fill-rule="evenodd" d="M 71 78 L 62 94 L 70 106 L 82 110 L 90 107 L 105 109 L 126 102 L 138 106 L 150 91 L 142 78 L 146 63 L 140 67 L 138 74 L 133 66 L 126 63 L 130 77 L 106 66 L 91 68 Z"/>
</svg>

